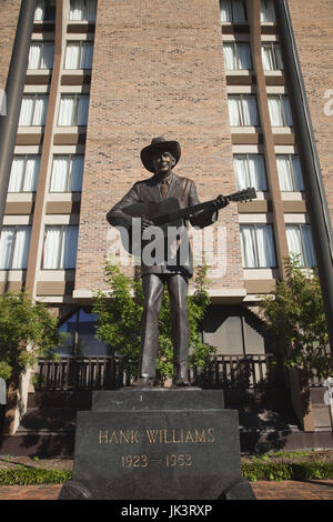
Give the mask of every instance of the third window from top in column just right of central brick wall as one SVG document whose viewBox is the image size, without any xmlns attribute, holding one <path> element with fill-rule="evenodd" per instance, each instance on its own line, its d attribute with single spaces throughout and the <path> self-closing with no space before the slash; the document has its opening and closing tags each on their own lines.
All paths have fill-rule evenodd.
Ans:
<svg viewBox="0 0 333 522">
<path fill-rule="evenodd" d="M 232 127 L 256 127 L 260 124 L 255 96 L 235 94 L 228 97 L 228 101 Z"/>
</svg>

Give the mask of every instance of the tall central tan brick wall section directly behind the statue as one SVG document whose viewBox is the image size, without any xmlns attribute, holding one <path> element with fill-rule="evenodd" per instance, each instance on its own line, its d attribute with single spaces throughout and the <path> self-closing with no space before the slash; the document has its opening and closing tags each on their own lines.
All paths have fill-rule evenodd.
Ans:
<svg viewBox="0 0 333 522">
<path fill-rule="evenodd" d="M 99 1 L 80 217 L 75 290 L 103 288 L 105 213 L 150 177 L 140 150 L 176 139 L 175 171 L 202 201 L 235 190 L 218 0 Z M 228 224 L 226 275 L 243 288 L 236 205 Z"/>
</svg>

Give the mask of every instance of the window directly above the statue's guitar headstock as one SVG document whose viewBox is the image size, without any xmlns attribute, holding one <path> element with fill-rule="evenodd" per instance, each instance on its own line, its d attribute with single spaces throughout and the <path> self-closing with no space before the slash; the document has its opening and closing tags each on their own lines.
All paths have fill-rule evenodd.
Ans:
<svg viewBox="0 0 333 522">
<path fill-rule="evenodd" d="M 256 190 L 268 190 L 265 160 L 261 154 L 236 154 L 233 167 L 238 190 L 254 187 Z"/>
</svg>

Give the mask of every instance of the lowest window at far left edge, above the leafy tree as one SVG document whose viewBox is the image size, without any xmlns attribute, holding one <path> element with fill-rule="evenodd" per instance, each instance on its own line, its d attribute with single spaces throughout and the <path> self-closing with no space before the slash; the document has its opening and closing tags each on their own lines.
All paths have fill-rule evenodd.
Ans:
<svg viewBox="0 0 333 522">
<path fill-rule="evenodd" d="M 3 227 L 0 237 L 0 270 L 24 270 L 31 227 Z"/>
</svg>

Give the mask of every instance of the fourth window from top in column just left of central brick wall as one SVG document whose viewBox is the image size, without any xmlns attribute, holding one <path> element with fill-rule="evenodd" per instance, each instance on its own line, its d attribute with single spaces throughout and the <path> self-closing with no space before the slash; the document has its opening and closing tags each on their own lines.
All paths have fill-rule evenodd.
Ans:
<svg viewBox="0 0 333 522">
<path fill-rule="evenodd" d="M 83 155 L 54 155 L 50 192 L 81 192 Z"/>
</svg>

